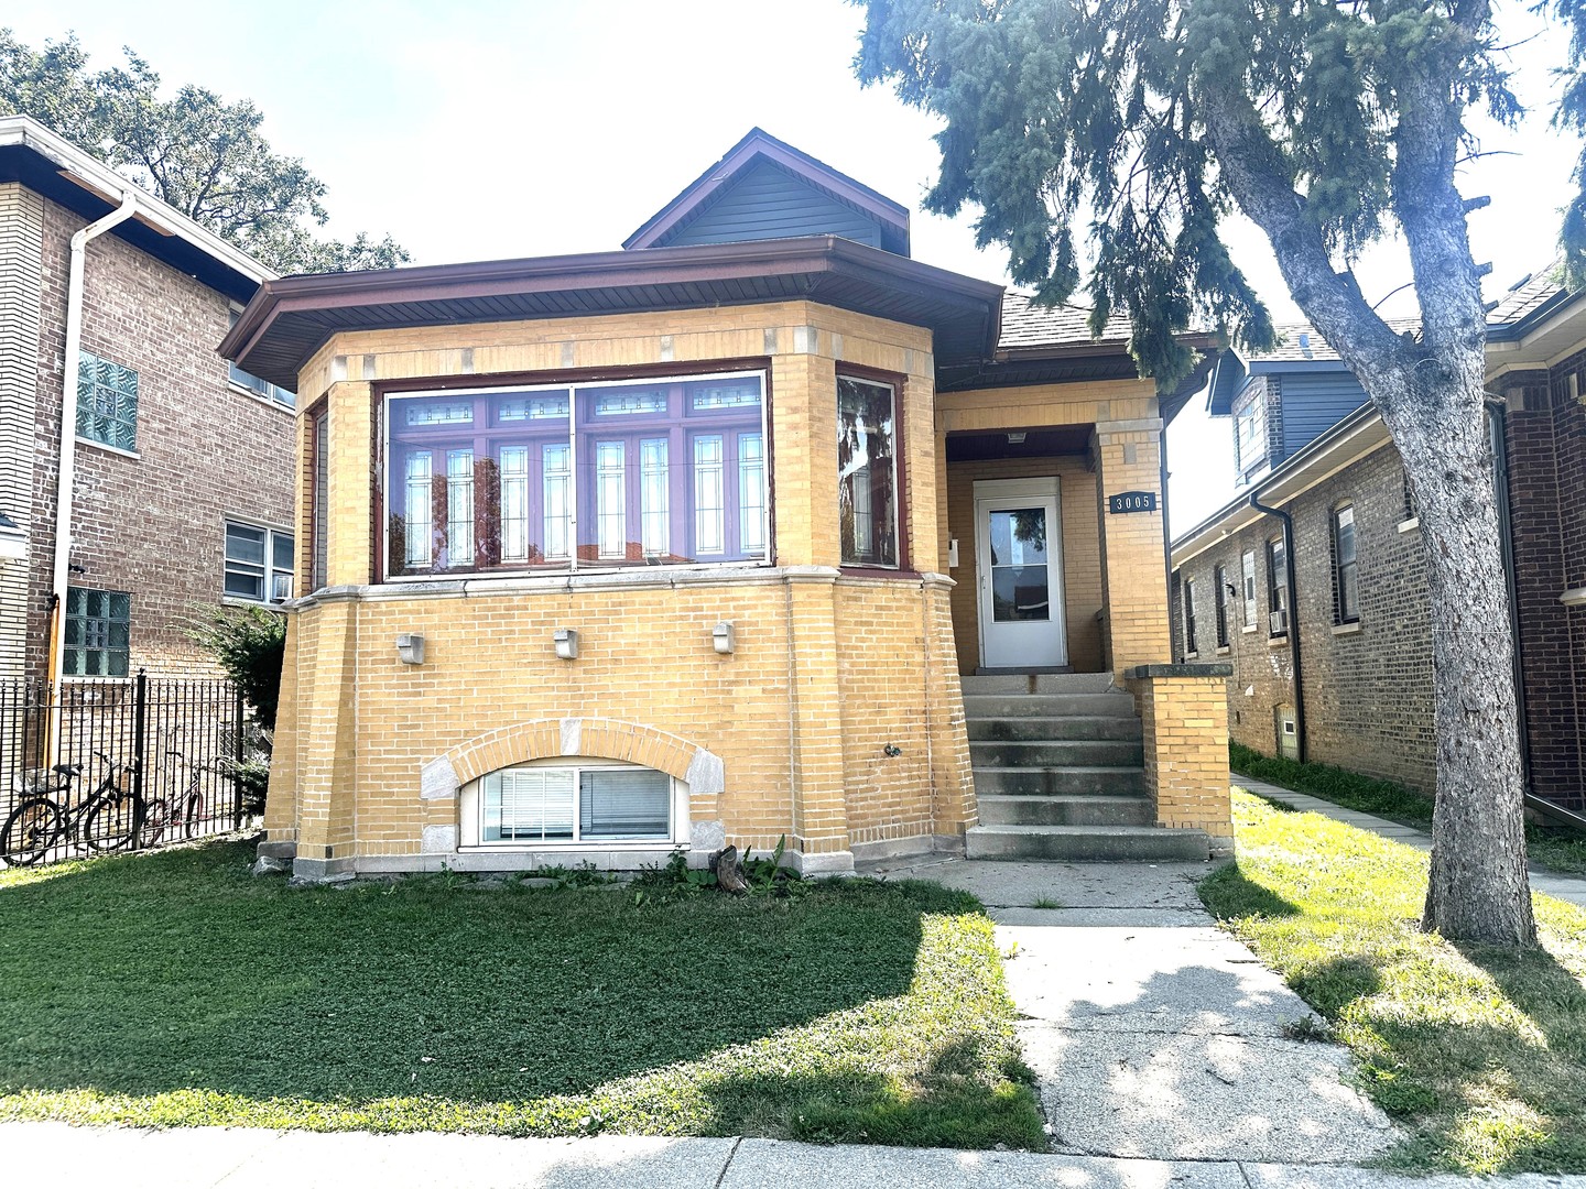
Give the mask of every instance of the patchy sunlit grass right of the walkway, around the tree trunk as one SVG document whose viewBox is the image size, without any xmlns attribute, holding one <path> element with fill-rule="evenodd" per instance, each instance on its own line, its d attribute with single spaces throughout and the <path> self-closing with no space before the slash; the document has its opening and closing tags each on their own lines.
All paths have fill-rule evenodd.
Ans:
<svg viewBox="0 0 1586 1189">
<path fill-rule="evenodd" d="M 1234 796 L 1237 861 L 1201 899 L 1348 1045 L 1408 1138 L 1393 1167 L 1586 1172 L 1586 912 L 1535 897 L 1542 945 L 1419 929 L 1426 858 Z"/>
</svg>

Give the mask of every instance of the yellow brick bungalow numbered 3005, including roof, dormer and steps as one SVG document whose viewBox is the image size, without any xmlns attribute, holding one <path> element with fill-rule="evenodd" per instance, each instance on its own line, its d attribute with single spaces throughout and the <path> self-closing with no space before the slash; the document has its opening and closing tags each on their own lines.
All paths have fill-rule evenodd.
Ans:
<svg viewBox="0 0 1586 1189">
<path fill-rule="evenodd" d="M 309 544 L 263 851 L 1226 848 L 1223 680 L 1167 664 L 1182 396 L 1124 338 L 758 130 L 619 252 L 266 282 L 222 354 L 300 393 Z"/>
</svg>

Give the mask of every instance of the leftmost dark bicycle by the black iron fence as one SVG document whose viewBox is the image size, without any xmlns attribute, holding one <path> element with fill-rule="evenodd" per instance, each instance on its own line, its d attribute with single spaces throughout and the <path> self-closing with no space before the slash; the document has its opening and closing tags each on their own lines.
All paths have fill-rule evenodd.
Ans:
<svg viewBox="0 0 1586 1189">
<path fill-rule="evenodd" d="M 14 867 L 32 867 L 62 837 L 92 851 L 114 851 L 132 843 L 143 824 L 143 802 L 133 791 L 135 764 L 119 764 L 103 751 L 105 778 L 73 804 L 70 789 L 82 778 L 82 764 L 56 764 L 43 782 L 24 786 L 27 796 L 0 828 L 0 858 Z"/>
</svg>

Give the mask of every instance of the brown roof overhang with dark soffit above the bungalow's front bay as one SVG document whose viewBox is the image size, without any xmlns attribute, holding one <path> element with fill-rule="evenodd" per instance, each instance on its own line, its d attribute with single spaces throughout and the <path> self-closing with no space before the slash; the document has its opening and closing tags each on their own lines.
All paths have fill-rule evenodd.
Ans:
<svg viewBox="0 0 1586 1189">
<path fill-rule="evenodd" d="M 339 331 L 818 301 L 925 327 L 937 363 L 996 349 L 1002 287 L 837 236 L 327 273 L 265 282 L 220 354 L 282 388 Z"/>
</svg>

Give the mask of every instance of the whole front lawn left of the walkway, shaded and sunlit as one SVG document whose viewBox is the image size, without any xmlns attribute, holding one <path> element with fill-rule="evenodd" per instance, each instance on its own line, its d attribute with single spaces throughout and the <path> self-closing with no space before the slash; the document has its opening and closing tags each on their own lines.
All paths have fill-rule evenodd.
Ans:
<svg viewBox="0 0 1586 1189">
<path fill-rule="evenodd" d="M 1045 1143 L 963 893 L 289 889 L 249 858 L 0 872 L 0 1118 Z"/>
</svg>

